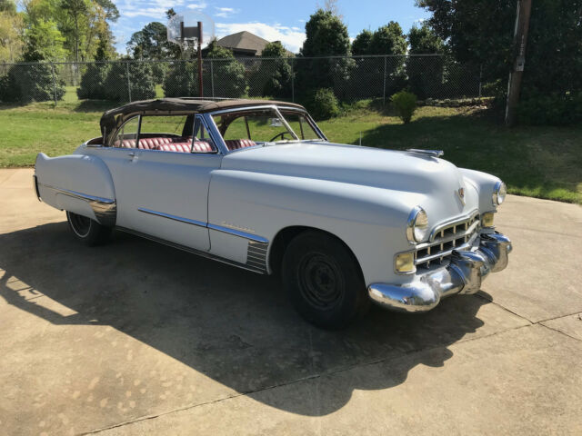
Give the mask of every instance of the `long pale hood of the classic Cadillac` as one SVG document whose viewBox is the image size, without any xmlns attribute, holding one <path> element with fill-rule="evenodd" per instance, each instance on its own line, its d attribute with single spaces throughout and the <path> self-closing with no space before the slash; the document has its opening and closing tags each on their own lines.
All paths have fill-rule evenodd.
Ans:
<svg viewBox="0 0 582 436">
<path fill-rule="evenodd" d="M 222 169 L 355 183 L 396 191 L 433 217 L 477 209 L 476 187 L 457 166 L 435 157 L 357 145 L 299 142 L 228 154 Z M 458 195 L 464 188 L 464 202 Z M 415 203 L 415 204 L 412 204 Z M 432 221 L 432 220 L 431 220 Z"/>
</svg>

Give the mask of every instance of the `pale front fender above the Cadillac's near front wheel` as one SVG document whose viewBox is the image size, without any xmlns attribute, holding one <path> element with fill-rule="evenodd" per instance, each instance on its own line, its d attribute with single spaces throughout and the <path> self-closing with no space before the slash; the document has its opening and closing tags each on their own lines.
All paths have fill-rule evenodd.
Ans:
<svg viewBox="0 0 582 436">
<path fill-rule="evenodd" d="M 269 173 L 217 170 L 208 196 L 208 221 L 246 229 L 272 242 L 290 226 L 336 235 L 356 255 L 366 283 L 394 274 L 394 254 L 409 249 L 406 218 L 421 193 L 403 193 Z M 268 263 L 267 263 L 268 264 Z"/>
</svg>

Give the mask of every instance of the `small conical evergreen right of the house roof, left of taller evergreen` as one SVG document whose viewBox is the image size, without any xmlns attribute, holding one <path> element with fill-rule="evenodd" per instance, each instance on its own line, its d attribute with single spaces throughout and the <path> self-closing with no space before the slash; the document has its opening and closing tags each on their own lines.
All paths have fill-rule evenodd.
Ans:
<svg viewBox="0 0 582 436">
<path fill-rule="evenodd" d="M 275 41 L 263 49 L 263 59 L 252 74 L 250 94 L 278 98 L 291 97 L 291 63 L 285 47 Z"/>
</svg>

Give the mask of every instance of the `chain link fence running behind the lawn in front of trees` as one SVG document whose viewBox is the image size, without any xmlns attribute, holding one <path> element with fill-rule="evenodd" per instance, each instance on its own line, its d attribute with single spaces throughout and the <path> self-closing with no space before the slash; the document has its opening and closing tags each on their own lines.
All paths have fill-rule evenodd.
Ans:
<svg viewBox="0 0 582 436">
<path fill-rule="evenodd" d="M 305 103 L 330 88 L 343 102 L 377 98 L 402 89 L 425 100 L 485 96 L 478 68 L 446 55 L 369 55 L 203 60 L 205 97 L 275 97 Z M 0 64 L 0 102 L 132 102 L 154 97 L 200 96 L 194 60 Z"/>
</svg>

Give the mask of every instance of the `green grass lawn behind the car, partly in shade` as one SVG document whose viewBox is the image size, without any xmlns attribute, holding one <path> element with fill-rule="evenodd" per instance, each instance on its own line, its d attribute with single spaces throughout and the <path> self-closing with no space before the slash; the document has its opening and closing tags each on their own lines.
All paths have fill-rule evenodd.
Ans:
<svg viewBox="0 0 582 436">
<path fill-rule="evenodd" d="M 65 94 L 66 97 L 66 94 Z M 49 103 L 0 106 L 0 167 L 30 166 L 38 152 L 71 153 L 99 135 L 99 118 L 111 103 Z M 422 107 L 412 123 L 359 104 L 343 116 L 319 123 L 337 143 L 380 148 L 445 151 L 461 167 L 493 173 L 509 193 L 582 203 L 582 126 L 497 124 L 487 111 Z"/>
</svg>

